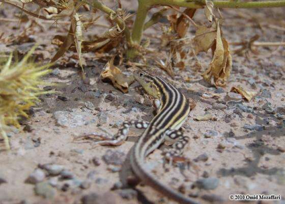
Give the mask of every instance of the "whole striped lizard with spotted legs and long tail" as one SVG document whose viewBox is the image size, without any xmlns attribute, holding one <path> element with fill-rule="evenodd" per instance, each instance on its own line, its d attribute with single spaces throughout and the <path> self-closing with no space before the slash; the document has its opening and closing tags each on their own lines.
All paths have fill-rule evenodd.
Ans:
<svg viewBox="0 0 285 204">
<path fill-rule="evenodd" d="M 146 129 L 131 152 L 132 170 L 141 181 L 168 198 L 179 203 L 195 204 L 196 201 L 162 184 L 144 167 L 145 158 L 165 140 L 173 143 L 172 148 L 164 152 L 166 159 L 171 161 L 172 158 L 179 157 L 182 154 L 189 137 L 183 136 L 179 129 L 190 112 L 189 102 L 179 90 L 159 76 L 153 77 L 139 70 L 134 71 L 133 75 L 146 92 L 156 98 L 157 115 L 151 122 L 143 120 L 125 121 L 115 136 L 93 134 L 102 139 L 96 144 L 121 145 L 126 140 L 131 126 L 137 129 Z"/>
</svg>

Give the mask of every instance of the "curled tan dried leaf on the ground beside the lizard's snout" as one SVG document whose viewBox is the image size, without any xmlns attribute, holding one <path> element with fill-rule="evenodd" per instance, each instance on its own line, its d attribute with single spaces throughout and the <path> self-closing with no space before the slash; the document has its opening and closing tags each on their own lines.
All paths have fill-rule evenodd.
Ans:
<svg viewBox="0 0 285 204">
<path fill-rule="evenodd" d="M 122 71 L 113 65 L 113 57 L 109 62 L 107 62 L 104 70 L 101 72 L 100 76 L 102 81 L 111 81 L 113 86 L 124 93 L 129 91 L 129 85 L 134 82 L 133 76 L 127 77 Z"/>
</svg>

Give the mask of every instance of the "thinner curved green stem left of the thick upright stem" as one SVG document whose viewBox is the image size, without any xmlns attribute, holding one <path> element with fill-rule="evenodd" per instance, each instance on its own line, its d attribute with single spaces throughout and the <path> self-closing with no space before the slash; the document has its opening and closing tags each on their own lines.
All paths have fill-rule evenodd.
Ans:
<svg viewBox="0 0 285 204">
<path fill-rule="evenodd" d="M 102 3 L 100 3 L 97 0 L 93 0 L 93 7 L 103 11 L 104 13 L 107 13 L 108 15 L 110 15 L 111 13 L 115 13 L 115 11 L 106 7 L 105 5 L 103 5 Z M 126 35 L 127 42 L 129 44 L 132 44 L 131 33 L 130 33 L 130 30 L 126 27 L 125 22 L 121 18 L 115 18 L 115 21 L 116 21 L 116 23 L 118 23 L 118 25 L 121 29 L 125 29 L 124 33 Z"/>
</svg>

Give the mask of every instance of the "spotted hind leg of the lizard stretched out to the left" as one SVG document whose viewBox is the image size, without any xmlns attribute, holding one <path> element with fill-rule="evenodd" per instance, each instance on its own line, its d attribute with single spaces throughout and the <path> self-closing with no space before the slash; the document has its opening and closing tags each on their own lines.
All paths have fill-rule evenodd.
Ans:
<svg viewBox="0 0 285 204">
<path fill-rule="evenodd" d="M 144 121 L 144 120 L 124 121 L 116 135 L 92 133 L 92 134 L 84 135 L 82 137 L 90 138 L 90 136 L 95 136 L 95 138 L 101 139 L 101 141 L 97 141 L 95 142 L 95 144 L 116 146 L 116 145 L 121 145 L 125 142 L 125 140 L 128 137 L 130 127 L 135 127 L 137 129 L 146 129 L 148 125 L 149 125 L 149 122 Z"/>
</svg>

